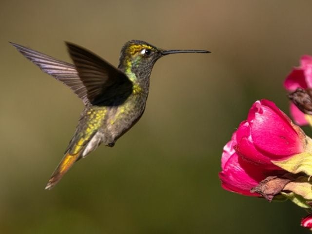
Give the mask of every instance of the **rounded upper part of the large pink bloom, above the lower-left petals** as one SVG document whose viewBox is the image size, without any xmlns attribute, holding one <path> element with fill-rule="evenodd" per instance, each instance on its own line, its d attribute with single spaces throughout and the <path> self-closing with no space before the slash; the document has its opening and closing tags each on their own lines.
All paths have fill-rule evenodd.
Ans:
<svg viewBox="0 0 312 234">
<path fill-rule="evenodd" d="M 269 100 L 256 101 L 247 120 L 236 132 L 236 153 L 245 160 L 279 169 L 271 160 L 287 159 L 304 151 L 305 135 L 276 105 Z"/>
</svg>

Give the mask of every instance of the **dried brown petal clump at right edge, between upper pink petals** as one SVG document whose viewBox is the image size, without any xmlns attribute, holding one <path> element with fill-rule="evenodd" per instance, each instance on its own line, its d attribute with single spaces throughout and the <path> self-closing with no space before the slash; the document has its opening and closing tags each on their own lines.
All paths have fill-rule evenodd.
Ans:
<svg viewBox="0 0 312 234">
<path fill-rule="evenodd" d="M 297 88 L 296 91 L 288 95 L 300 111 L 312 115 L 312 89 Z"/>
</svg>

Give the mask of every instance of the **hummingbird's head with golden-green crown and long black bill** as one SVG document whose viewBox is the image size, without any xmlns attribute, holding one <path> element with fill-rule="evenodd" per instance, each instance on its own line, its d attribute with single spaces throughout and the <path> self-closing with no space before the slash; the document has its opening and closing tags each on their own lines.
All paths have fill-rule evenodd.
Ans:
<svg viewBox="0 0 312 234">
<path fill-rule="evenodd" d="M 119 68 L 138 76 L 149 75 L 157 59 L 176 53 L 210 53 L 205 50 L 164 50 L 141 40 L 130 40 L 121 48 Z"/>
</svg>

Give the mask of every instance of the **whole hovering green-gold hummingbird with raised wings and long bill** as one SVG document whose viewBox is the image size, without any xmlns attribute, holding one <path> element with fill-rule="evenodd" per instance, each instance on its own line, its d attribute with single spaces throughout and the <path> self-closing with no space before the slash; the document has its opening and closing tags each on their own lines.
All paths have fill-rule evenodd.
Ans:
<svg viewBox="0 0 312 234">
<path fill-rule="evenodd" d="M 103 143 L 113 147 L 142 116 L 149 93 L 150 75 L 157 59 L 177 53 L 210 53 L 206 50 L 164 50 L 145 41 L 130 40 L 114 67 L 98 55 L 65 42 L 70 64 L 25 46 L 12 43 L 27 59 L 56 78 L 80 98 L 84 109 L 64 156 L 45 189 L 52 189 L 81 158 Z"/>
</svg>

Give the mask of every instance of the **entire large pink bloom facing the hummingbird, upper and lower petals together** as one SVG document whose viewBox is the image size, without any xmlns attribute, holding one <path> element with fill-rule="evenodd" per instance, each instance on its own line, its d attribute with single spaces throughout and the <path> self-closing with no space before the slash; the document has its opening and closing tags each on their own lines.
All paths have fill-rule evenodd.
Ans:
<svg viewBox="0 0 312 234">
<path fill-rule="evenodd" d="M 240 123 L 223 148 L 219 173 L 222 188 L 241 195 L 261 196 L 251 189 L 268 176 L 289 173 L 272 160 L 288 159 L 304 152 L 305 140 L 302 130 L 272 101 L 256 101 L 247 120 Z"/>
</svg>

